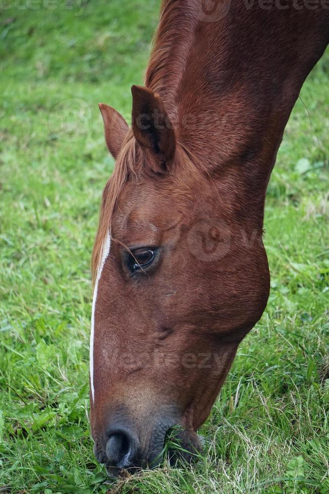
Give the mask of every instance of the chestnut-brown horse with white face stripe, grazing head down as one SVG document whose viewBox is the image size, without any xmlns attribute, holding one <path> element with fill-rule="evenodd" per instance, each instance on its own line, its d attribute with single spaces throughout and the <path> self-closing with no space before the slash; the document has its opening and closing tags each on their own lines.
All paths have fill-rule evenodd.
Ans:
<svg viewBox="0 0 329 494">
<path fill-rule="evenodd" d="M 267 184 L 328 24 L 326 0 L 164 0 L 132 129 L 100 105 L 116 164 L 93 253 L 91 426 L 110 474 L 158 464 L 175 424 L 201 448 L 267 304 Z"/>
</svg>

